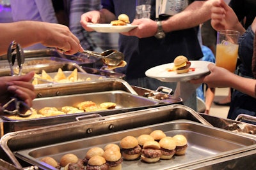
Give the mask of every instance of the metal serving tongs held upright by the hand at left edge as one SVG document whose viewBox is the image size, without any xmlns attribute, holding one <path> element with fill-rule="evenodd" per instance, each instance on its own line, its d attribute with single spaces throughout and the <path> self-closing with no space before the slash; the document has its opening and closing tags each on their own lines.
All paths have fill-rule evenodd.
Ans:
<svg viewBox="0 0 256 170">
<path fill-rule="evenodd" d="M 23 49 L 18 43 L 16 43 L 16 41 L 12 41 L 12 43 L 8 47 L 7 58 L 10 64 L 12 76 L 17 76 L 15 75 L 13 70 L 13 66 L 17 58 L 19 67 L 18 76 L 20 76 L 22 73 L 22 66 L 25 61 L 25 56 Z M 10 101 L 3 105 L 2 110 L 8 115 L 19 115 L 20 117 L 29 117 L 32 114 L 31 108 L 26 103 L 24 103 L 24 101 L 21 101 L 17 96 L 11 97 Z"/>
</svg>

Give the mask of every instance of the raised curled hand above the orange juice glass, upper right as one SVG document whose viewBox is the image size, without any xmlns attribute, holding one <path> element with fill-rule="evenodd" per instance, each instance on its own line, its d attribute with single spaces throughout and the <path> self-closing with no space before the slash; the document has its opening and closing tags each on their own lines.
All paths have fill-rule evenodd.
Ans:
<svg viewBox="0 0 256 170">
<path fill-rule="evenodd" d="M 214 1 L 211 8 L 211 25 L 216 31 L 236 30 L 239 20 L 236 13 L 223 0 Z"/>
</svg>

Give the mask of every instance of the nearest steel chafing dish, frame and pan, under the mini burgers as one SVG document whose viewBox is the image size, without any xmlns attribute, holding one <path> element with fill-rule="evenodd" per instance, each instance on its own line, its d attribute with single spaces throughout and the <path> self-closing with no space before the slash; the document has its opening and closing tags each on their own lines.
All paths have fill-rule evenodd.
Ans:
<svg viewBox="0 0 256 170">
<path fill-rule="evenodd" d="M 74 153 L 83 159 L 89 148 L 103 147 L 108 143 L 119 144 L 125 136 L 138 137 L 157 129 L 168 136 L 184 134 L 188 139 L 186 154 L 174 156 L 171 160 L 160 160 L 155 164 L 143 163 L 141 160 L 124 160 L 123 169 L 255 167 L 255 136 L 243 136 L 207 125 L 195 111 L 179 104 L 11 132 L 4 135 L 0 143 L 12 164 L 19 168 L 25 164 L 53 169 L 40 162 L 40 159 L 50 156 L 60 161 L 65 153 Z"/>
</svg>

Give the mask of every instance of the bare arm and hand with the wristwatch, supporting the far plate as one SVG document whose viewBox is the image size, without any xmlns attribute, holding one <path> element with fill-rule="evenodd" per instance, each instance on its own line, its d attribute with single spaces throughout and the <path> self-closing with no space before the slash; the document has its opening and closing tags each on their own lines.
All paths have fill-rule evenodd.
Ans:
<svg viewBox="0 0 256 170">
<path fill-rule="evenodd" d="M 189 6 L 168 18 L 168 20 L 162 21 L 162 27 L 164 32 L 172 32 L 182 29 L 189 29 L 204 23 L 211 18 L 211 6 L 212 2 L 209 1 L 194 1 Z M 137 36 L 138 38 L 146 38 L 154 36 L 157 32 L 157 22 L 148 18 L 141 18 L 134 20 L 132 25 L 138 25 L 136 29 L 132 29 L 129 32 L 122 32 L 126 36 Z"/>
</svg>

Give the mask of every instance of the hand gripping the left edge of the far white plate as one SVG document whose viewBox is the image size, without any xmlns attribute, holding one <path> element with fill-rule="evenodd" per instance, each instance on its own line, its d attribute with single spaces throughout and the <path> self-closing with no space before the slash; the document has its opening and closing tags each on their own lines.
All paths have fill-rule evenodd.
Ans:
<svg viewBox="0 0 256 170">
<path fill-rule="evenodd" d="M 86 31 L 93 31 L 90 27 L 87 27 L 88 22 L 93 24 L 100 23 L 100 11 L 89 11 L 81 15 L 80 23 Z"/>
</svg>

